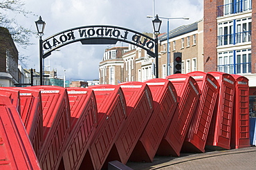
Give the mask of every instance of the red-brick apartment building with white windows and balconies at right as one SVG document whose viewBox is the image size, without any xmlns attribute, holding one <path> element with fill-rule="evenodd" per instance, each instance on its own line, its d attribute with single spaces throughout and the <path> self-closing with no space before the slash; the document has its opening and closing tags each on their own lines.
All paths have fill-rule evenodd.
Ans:
<svg viewBox="0 0 256 170">
<path fill-rule="evenodd" d="M 250 110 L 256 110 L 256 1 L 204 1 L 204 70 L 249 79 Z"/>
</svg>

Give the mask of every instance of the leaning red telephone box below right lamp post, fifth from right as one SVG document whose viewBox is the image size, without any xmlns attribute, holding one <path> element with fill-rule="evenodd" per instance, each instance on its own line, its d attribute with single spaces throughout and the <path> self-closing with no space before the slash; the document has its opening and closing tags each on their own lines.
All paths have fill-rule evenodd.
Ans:
<svg viewBox="0 0 256 170">
<path fill-rule="evenodd" d="M 178 104 L 175 88 L 169 80 L 149 79 L 145 83 L 153 96 L 154 111 L 129 159 L 136 162 L 153 161 Z"/>
</svg>

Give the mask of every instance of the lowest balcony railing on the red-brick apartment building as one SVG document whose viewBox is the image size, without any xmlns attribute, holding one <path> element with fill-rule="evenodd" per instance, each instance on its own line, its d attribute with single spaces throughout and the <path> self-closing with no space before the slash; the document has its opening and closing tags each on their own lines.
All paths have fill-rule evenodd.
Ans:
<svg viewBox="0 0 256 170">
<path fill-rule="evenodd" d="M 234 70 L 234 66 L 236 71 Z M 239 64 L 226 64 L 219 65 L 218 71 L 228 74 L 239 74 L 239 73 L 251 73 L 251 62 L 248 63 L 239 63 Z"/>
</svg>

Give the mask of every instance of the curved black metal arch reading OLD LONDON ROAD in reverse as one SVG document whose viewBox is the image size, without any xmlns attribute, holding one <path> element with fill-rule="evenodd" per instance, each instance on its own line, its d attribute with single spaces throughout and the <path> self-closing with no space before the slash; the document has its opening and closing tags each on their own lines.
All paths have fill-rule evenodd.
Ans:
<svg viewBox="0 0 256 170">
<path fill-rule="evenodd" d="M 117 41 L 123 41 L 143 48 L 147 50 L 148 55 L 155 57 L 155 53 L 152 51 L 155 40 L 152 37 L 129 28 L 93 25 L 71 28 L 44 39 L 42 43 L 43 51 L 45 51 L 43 58 L 51 55 L 52 51 L 77 41 L 82 44 L 116 44 Z"/>
</svg>

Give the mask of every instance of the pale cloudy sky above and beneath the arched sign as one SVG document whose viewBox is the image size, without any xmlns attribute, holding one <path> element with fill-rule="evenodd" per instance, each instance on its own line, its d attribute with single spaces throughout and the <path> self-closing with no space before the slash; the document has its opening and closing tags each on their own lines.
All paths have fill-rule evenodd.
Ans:
<svg viewBox="0 0 256 170">
<path fill-rule="evenodd" d="M 129 28 L 138 32 L 153 32 L 152 19 L 159 17 L 189 17 L 189 20 L 170 19 L 170 30 L 203 18 L 203 0 L 26 0 L 25 10 L 34 15 L 17 15 L 17 22 L 36 31 L 39 16 L 46 22 L 42 39 L 57 32 L 79 26 L 109 25 Z M 154 8 L 153 8 L 154 4 Z M 163 19 L 161 32 L 167 32 L 167 20 Z M 17 46 L 19 55 L 29 59 L 21 64 L 24 68 L 39 71 L 39 37 L 30 38 L 34 45 L 26 49 Z M 113 45 L 112 45 L 113 46 Z M 82 45 L 80 42 L 59 48 L 44 60 L 47 70 L 57 70 L 58 76 L 67 80 L 98 79 L 98 68 L 104 50 L 111 45 Z"/>
</svg>

